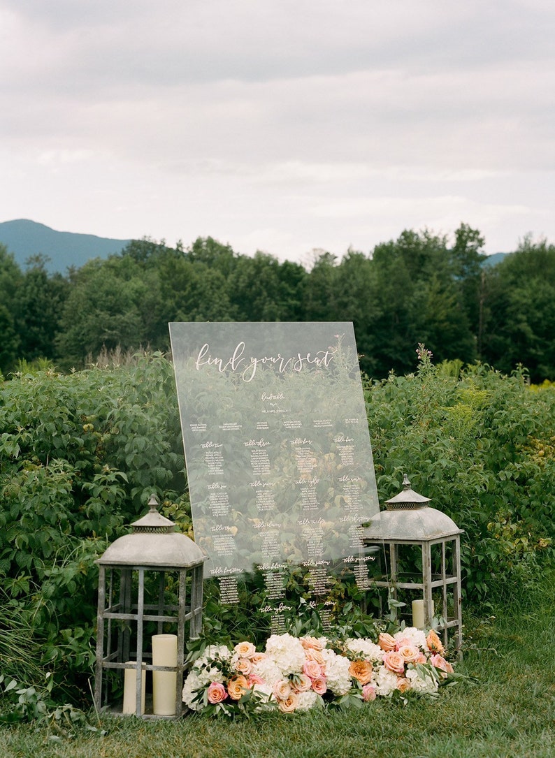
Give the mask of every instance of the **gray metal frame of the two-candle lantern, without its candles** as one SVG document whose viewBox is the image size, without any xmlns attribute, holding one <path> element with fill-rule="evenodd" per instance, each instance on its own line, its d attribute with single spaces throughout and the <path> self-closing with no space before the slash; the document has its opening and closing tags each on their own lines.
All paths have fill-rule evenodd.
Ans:
<svg viewBox="0 0 555 758">
<path fill-rule="evenodd" d="M 110 707 L 109 672 L 135 670 L 134 715 L 143 719 L 179 718 L 183 713 L 181 691 L 187 669 L 185 647 L 202 631 L 202 571 L 205 552 L 186 534 L 175 531 L 174 522 L 160 515 L 152 496 L 150 510 L 131 526 L 133 532 L 115 540 L 96 561 L 99 565 L 99 597 L 96 630 L 95 704 Z M 152 579 L 155 581 L 151 581 Z M 174 576 L 177 604 L 168 597 L 168 580 Z M 154 584 L 155 597 L 152 587 Z M 189 603 L 187 588 L 189 586 Z M 149 591 L 150 589 L 150 591 Z M 172 602 L 173 601 L 173 602 Z M 152 652 L 144 650 L 145 625 L 152 622 L 155 634 L 177 634 L 176 666 L 155 666 Z M 187 634 L 188 632 L 188 634 Z M 143 712 L 145 700 L 141 672 L 175 672 L 175 713 L 159 716 Z"/>
</svg>

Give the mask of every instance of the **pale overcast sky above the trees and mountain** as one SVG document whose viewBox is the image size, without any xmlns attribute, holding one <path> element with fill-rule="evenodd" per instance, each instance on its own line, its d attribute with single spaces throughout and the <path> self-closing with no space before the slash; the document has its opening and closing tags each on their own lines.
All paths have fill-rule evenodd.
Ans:
<svg viewBox="0 0 555 758">
<path fill-rule="evenodd" d="M 555 243 L 553 0 L 0 0 L 0 221 Z"/>
</svg>

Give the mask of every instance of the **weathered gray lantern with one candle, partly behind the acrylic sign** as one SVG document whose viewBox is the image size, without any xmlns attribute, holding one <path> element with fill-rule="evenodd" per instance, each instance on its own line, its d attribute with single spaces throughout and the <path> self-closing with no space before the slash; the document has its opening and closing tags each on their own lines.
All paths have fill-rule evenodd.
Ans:
<svg viewBox="0 0 555 758">
<path fill-rule="evenodd" d="M 386 500 L 387 510 L 364 529 L 363 542 L 380 549 L 381 571 L 375 586 L 386 587 L 394 600 L 399 590 L 407 590 L 405 597 L 413 598 L 410 625 L 430 628 L 435 615 L 444 644 L 447 646 L 448 631 L 453 630 L 456 650 L 460 650 L 462 529 L 449 516 L 430 508 L 429 502 L 430 498 L 412 490 L 405 475 L 403 490 Z M 422 575 L 414 572 L 420 556 Z"/>
</svg>

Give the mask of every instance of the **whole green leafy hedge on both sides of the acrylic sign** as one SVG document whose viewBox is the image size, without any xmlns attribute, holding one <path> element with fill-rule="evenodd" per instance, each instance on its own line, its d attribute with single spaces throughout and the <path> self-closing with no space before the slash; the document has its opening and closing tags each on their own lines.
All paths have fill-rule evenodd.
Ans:
<svg viewBox="0 0 555 758">
<path fill-rule="evenodd" d="M 435 366 L 421 347 L 414 374 L 365 381 L 365 399 L 380 500 L 397 494 L 406 472 L 464 530 L 466 603 L 483 609 L 507 588 L 516 594 L 537 581 L 553 559 L 555 386 L 529 387 L 522 370 L 507 377 L 485 365 Z M 0 581 L 5 608 L 29 619 L 31 640 L 40 643 L 10 671 L 0 650 L 0 675 L 27 688 L 38 663 L 52 672 L 58 702 L 87 697 L 95 560 L 143 515 L 153 491 L 192 536 L 186 485 L 173 368 L 164 356 L 68 375 L 27 367 L 0 384 Z M 219 615 L 217 590 L 205 590 L 207 631 L 260 633 L 256 587 Z M 354 619 L 362 633 L 359 609 L 372 607 L 372 598 L 341 578 L 333 591 L 334 623 Z M 291 572 L 287 592 L 306 599 L 299 572 Z M 299 623 L 313 625 L 308 605 Z"/>
</svg>

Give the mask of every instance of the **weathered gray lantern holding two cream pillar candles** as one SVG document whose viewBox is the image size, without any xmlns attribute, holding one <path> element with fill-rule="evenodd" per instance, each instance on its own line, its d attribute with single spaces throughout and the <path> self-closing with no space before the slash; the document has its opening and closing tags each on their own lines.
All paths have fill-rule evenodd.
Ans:
<svg viewBox="0 0 555 758">
<path fill-rule="evenodd" d="M 206 556 L 158 513 L 154 495 L 149 506 L 131 525 L 131 534 L 115 540 L 96 561 L 95 702 L 98 708 L 110 705 L 115 713 L 177 718 L 187 640 L 199 637 L 202 629 Z M 122 683 L 120 705 L 113 699 Z"/>
</svg>

